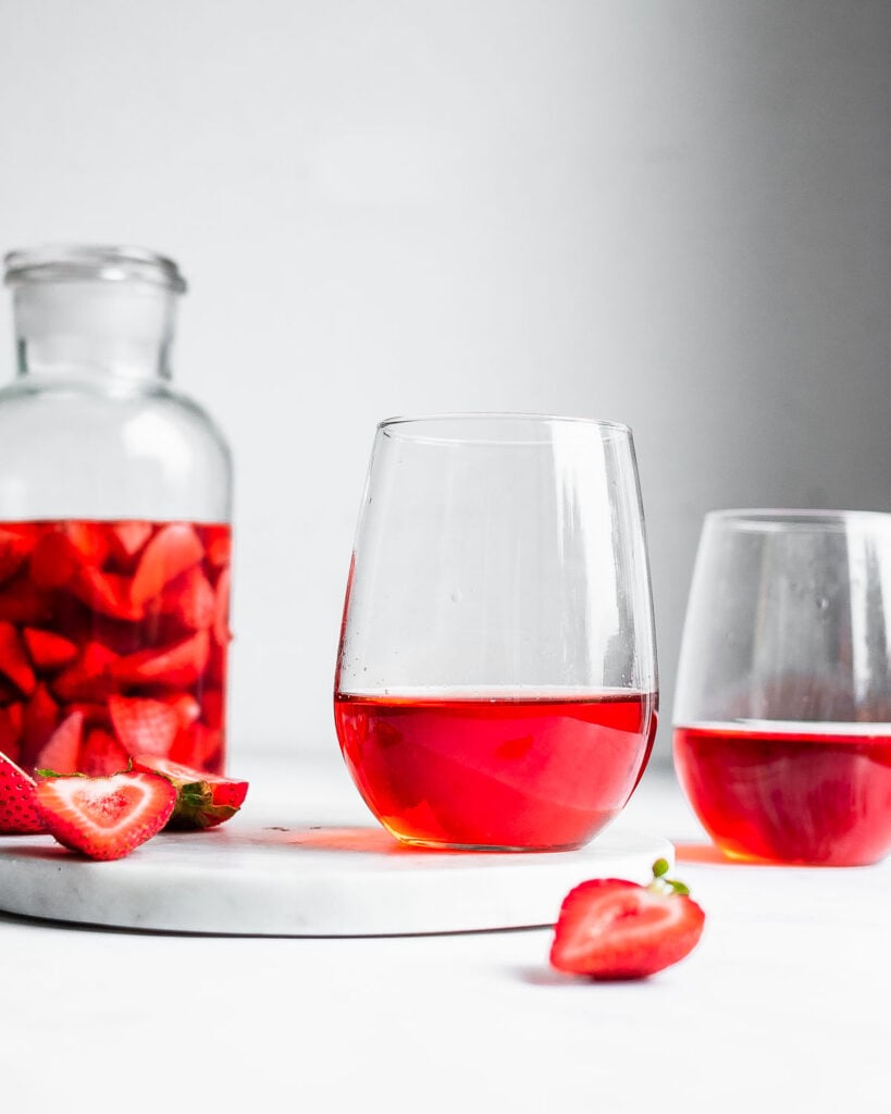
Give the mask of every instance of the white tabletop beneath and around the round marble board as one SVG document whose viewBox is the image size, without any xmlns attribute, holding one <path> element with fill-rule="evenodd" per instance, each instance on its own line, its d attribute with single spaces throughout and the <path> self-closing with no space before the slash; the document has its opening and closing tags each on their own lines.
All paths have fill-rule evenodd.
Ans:
<svg viewBox="0 0 891 1114">
<path fill-rule="evenodd" d="M 252 800 L 368 815 L 334 756 L 236 758 Z M 617 823 L 678 847 L 698 949 L 566 979 L 551 932 L 157 936 L 0 913 L 0 1111 L 891 1111 L 891 859 L 717 861 L 650 770 Z"/>
</svg>

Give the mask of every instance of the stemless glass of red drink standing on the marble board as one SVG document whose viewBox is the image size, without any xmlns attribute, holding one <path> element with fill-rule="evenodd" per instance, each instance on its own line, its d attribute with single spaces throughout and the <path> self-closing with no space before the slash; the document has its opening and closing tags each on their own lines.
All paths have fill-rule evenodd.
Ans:
<svg viewBox="0 0 891 1114">
<path fill-rule="evenodd" d="M 521 414 L 378 427 L 334 711 L 407 843 L 562 850 L 625 805 L 656 725 L 631 434 Z"/>
</svg>

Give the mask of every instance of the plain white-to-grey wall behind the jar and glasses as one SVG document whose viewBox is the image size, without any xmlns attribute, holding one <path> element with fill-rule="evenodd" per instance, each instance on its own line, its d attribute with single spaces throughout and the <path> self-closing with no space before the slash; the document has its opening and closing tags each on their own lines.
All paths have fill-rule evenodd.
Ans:
<svg viewBox="0 0 891 1114">
<path fill-rule="evenodd" d="M 0 0 L 0 246 L 135 242 L 192 282 L 235 752 L 335 746 L 392 413 L 633 426 L 664 722 L 707 509 L 891 509 L 889 57 L 882 0 Z"/>
</svg>

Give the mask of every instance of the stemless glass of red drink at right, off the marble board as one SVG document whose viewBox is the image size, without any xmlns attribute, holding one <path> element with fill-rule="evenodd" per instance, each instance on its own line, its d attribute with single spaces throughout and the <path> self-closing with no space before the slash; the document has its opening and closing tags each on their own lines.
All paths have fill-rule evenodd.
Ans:
<svg viewBox="0 0 891 1114">
<path fill-rule="evenodd" d="M 728 854 L 854 866 L 891 847 L 891 515 L 706 516 L 675 766 Z"/>
</svg>

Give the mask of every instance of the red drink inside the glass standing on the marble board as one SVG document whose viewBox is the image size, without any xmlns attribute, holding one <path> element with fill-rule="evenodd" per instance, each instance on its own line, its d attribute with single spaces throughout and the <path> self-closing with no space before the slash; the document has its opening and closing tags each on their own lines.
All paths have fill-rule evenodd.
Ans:
<svg viewBox="0 0 891 1114">
<path fill-rule="evenodd" d="M 335 696 L 371 811 L 407 842 L 556 850 L 625 805 L 656 729 L 654 694 Z"/>
</svg>

